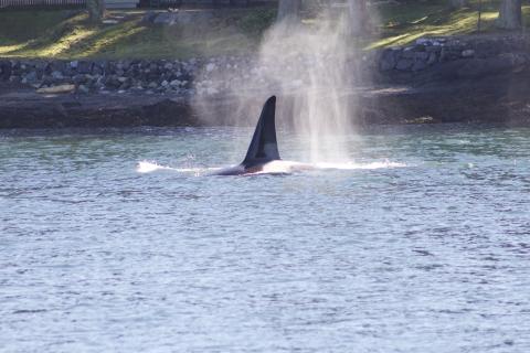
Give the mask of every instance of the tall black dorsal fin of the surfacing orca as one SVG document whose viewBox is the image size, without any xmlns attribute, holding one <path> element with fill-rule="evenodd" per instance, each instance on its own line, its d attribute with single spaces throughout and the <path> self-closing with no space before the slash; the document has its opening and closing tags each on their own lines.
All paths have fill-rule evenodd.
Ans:
<svg viewBox="0 0 530 353">
<path fill-rule="evenodd" d="M 278 145 L 276 142 L 276 96 L 267 99 L 257 121 L 254 137 L 246 152 L 243 165 L 245 168 L 278 160 Z"/>
</svg>

